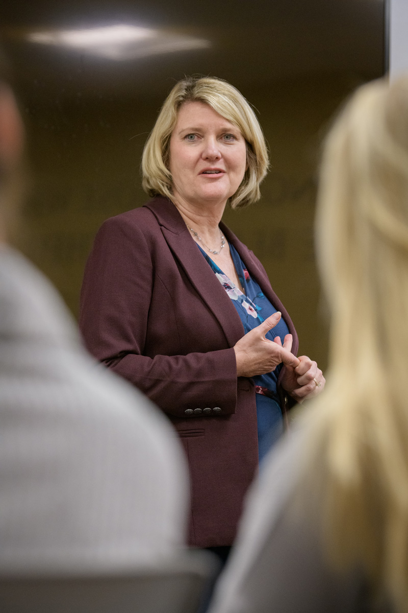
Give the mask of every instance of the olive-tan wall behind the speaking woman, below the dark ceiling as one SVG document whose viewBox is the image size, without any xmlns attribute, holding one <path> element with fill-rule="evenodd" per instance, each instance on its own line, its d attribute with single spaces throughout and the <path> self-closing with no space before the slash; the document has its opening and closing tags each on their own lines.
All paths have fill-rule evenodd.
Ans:
<svg viewBox="0 0 408 613">
<path fill-rule="evenodd" d="M 236 83 L 239 87 L 239 83 Z M 300 352 L 327 362 L 313 250 L 321 135 L 354 77 L 320 77 L 242 89 L 259 111 L 272 167 L 262 200 L 224 220 L 261 259 L 294 320 Z M 146 201 L 139 160 L 161 100 L 37 101 L 23 115 L 32 186 L 21 248 L 78 313 L 84 262 L 103 219 Z"/>
</svg>

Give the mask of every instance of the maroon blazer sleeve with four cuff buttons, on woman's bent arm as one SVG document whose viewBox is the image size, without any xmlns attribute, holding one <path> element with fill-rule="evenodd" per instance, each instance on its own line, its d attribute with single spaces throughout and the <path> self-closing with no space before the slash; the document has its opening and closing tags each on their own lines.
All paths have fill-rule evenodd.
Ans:
<svg viewBox="0 0 408 613">
<path fill-rule="evenodd" d="M 210 408 L 212 417 L 235 413 L 233 348 L 144 355 L 155 276 L 148 240 L 123 216 L 108 219 L 98 231 L 81 290 L 80 329 L 87 349 L 172 416 L 193 417 L 197 408 Z"/>
</svg>

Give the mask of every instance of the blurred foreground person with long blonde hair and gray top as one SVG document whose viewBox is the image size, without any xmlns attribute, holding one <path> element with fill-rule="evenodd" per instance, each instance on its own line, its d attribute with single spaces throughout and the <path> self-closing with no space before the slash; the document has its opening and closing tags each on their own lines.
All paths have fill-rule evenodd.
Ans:
<svg viewBox="0 0 408 613">
<path fill-rule="evenodd" d="M 265 463 L 211 613 L 408 611 L 408 75 L 333 126 L 316 232 L 325 395 Z"/>
</svg>

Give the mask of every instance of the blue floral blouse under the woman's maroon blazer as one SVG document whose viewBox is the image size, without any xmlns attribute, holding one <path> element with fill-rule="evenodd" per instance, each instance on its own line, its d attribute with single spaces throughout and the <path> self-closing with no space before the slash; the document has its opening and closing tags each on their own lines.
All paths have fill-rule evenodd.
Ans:
<svg viewBox="0 0 408 613">
<path fill-rule="evenodd" d="M 231 298 L 240 316 L 245 333 L 253 330 L 270 315 L 276 313 L 275 307 L 273 307 L 272 303 L 270 303 L 267 297 L 262 293 L 259 284 L 250 277 L 239 253 L 231 244 L 229 245 L 229 251 L 244 293 L 242 293 L 239 287 L 237 287 L 227 275 L 224 275 L 222 270 L 212 261 L 201 246 L 198 245 L 198 248 L 206 258 L 215 276 L 217 276 L 218 281 L 220 281 L 224 290 Z M 283 343 L 284 337 L 288 333 L 289 329 L 283 321 L 283 318 L 281 318 L 279 323 L 272 328 L 272 330 L 267 332 L 266 338 L 273 341 L 275 337 L 279 336 Z M 279 438 L 283 430 L 282 409 L 278 394 L 276 393 L 276 382 L 281 367 L 282 365 L 280 364 L 272 372 L 266 375 L 256 375 L 252 378 L 256 386 L 259 462 L 261 462 L 264 455 Z"/>
</svg>

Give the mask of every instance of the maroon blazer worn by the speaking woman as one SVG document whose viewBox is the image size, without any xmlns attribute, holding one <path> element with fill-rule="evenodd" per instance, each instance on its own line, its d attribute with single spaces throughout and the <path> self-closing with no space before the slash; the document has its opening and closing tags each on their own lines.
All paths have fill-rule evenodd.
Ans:
<svg viewBox="0 0 408 613">
<path fill-rule="evenodd" d="M 264 267 L 220 227 L 281 311 L 296 354 L 294 326 Z M 80 327 L 89 351 L 147 394 L 179 433 L 190 467 L 190 544 L 231 545 L 258 467 L 255 389 L 237 379 L 239 314 L 168 199 L 103 223 L 86 264 Z"/>
</svg>

